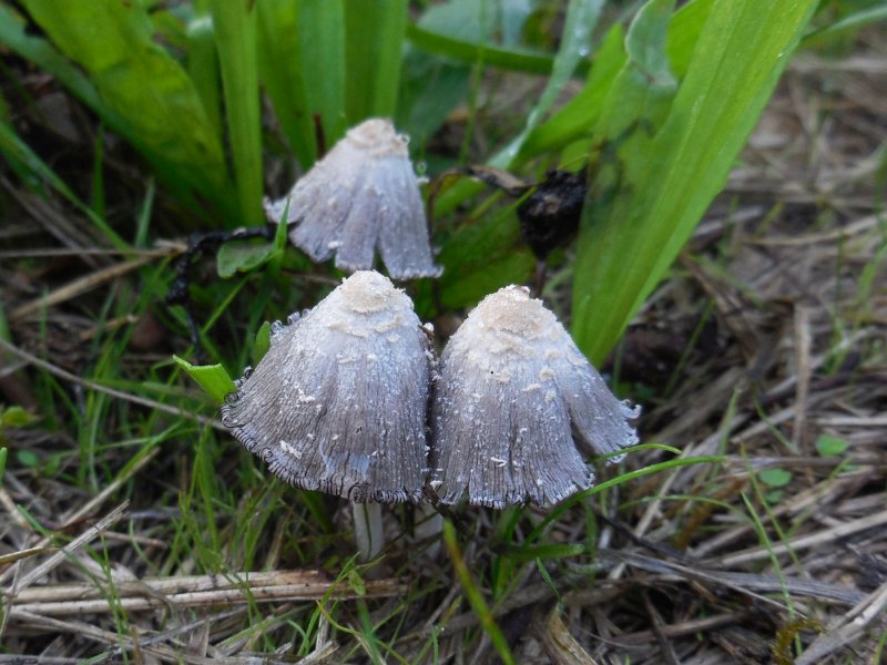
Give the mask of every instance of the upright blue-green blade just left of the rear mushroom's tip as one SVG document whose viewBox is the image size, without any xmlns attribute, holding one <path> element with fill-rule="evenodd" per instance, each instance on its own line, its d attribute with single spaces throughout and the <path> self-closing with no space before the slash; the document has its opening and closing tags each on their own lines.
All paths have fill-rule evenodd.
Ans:
<svg viewBox="0 0 887 665">
<path fill-rule="evenodd" d="M 345 133 L 345 6 L 343 0 L 298 3 L 298 45 L 309 117 L 319 115 L 327 147 Z"/>
</svg>

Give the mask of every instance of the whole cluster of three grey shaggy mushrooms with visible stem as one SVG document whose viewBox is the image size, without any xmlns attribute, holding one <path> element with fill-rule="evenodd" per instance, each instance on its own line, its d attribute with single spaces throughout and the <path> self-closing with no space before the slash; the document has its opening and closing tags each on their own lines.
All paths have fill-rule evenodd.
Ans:
<svg viewBox="0 0 887 665">
<path fill-rule="evenodd" d="M 335 255 L 357 272 L 273 326 L 268 352 L 236 381 L 222 422 L 289 484 L 366 507 L 366 524 L 355 523 L 364 559 L 379 543 L 360 544 L 361 530 L 380 530 L 369 505 L 418 503 L 428 492 L 447 504 L 467 495 L 472 505 L 547 507 L 591 485 L 580 448 L 612 453 L 636 442 L 628 421 L 639 410 L 610 392 L 523 287 L 485 298 L 438 361 L 412 301 L 370 269 L 378 252 L 395 279 L 440 274 L 407 140 L 390 121 L 350 130 L 265 207 L 314 260 Z"/>
</svg>

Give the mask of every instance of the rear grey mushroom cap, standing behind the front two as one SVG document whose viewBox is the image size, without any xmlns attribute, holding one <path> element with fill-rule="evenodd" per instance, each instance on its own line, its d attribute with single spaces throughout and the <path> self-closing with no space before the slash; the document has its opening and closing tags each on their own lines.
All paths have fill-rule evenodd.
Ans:
<svg viewBox="0 0 887 665">
<path fill-rule="evenodd" d="M 335 255 L 343 270 L 367 270 L 376 252 L 394 279 L 438 277 L 425 204 L 407 137 L 390 120 L 370 119 L 345 137 L 287 196 L 265 200 L 275 224 L 295 224 L 289 238 L 315 262 Z"/>
</svg>

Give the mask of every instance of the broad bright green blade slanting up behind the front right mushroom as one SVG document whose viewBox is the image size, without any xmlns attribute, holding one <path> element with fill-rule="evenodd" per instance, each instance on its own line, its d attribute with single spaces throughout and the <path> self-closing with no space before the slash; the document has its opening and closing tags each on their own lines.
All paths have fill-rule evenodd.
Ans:
<svg viewBox="0 0 887 665">
<path fill-rule="evenodd" d="M 613 137 L 602 130 L 611 125 L 601 119 L 595 145 L 614 150 L 609 173 L 589 191 L 573 291 L 573 335 L 593 362 L 612 349 L 723 186 L 815 6 L 715 4 L 655 135 L 608 145 Z M 645 48 L 626 68 L 643 63 Z M 633 137 L 640 132 L 646 130 L 636 124 Z"/>
</svg>

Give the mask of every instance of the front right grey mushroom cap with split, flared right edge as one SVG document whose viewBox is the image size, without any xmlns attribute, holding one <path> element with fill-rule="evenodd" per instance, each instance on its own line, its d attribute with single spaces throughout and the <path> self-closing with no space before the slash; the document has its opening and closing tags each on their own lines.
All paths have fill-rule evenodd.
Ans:
<svg viewBox="0 0 887 665">
<path fill-rule="evenodd" d="M 487 296 L 449 340 L 432 405 L 431 487 L 443 503 L 553 505 L 588 489 L 584 452 L 638 442 L 557 317 L 523 287 Z M 621 458 L 616 458 L 621 459 Z"/>
</svg>

